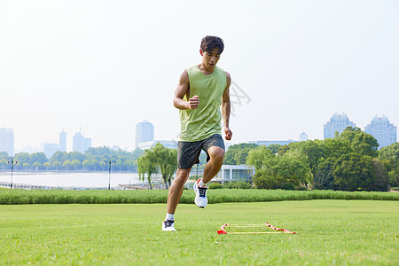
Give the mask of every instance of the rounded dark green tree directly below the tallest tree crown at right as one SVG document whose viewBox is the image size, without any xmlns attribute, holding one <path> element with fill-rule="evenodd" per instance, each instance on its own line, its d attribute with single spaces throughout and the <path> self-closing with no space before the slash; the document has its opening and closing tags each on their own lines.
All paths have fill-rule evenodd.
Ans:
<svg viewBox="0 0 399 266">
<path fill-rule="evenodd" d="M 359 153 L 342 155 L 335 163 L 332 176 L 342 191 L 367 191 L 376 181 L 372 157 Z"/>
</svg>

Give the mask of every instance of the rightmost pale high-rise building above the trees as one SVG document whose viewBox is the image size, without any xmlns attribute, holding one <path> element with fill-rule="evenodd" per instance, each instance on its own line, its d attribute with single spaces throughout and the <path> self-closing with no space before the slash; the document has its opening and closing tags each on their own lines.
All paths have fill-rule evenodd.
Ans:
<svg viewBox="0 0 399 266">
<path fill-rule="evenodd" d="M 394 144 L 397 141 L 396 127 L 389 123 L 385 116 L 375 116 L 372 122 L 364 127 L 364 132 L 377 139 L 379 149 Z"/>
</svg>

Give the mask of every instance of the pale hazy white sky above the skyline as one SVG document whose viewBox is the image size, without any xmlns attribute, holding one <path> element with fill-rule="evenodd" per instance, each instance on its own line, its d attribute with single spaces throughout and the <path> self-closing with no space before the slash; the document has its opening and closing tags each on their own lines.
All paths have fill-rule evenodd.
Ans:
<svg viewBox="0 0 399 266">
<path fill-rule="evenodd" d="M 399 2 L 0 0 L 0 128 L 17 151 L 82 130 L 92 146 L 135 149 L 136 124 L 176 140 L 174 91 L 223 38 L 237 144 L 323 139 L 346 113 L 399 125 Z"/>
</svg>

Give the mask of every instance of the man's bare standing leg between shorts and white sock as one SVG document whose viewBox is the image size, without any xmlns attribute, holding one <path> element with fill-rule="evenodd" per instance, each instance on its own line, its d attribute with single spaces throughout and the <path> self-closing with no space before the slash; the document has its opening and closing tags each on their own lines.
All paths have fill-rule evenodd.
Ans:
<svg viewBox="0 0 399 266">
<path fill-rule="evenodd" d="M 190 171 L 192 168 L 189 169 L 181 169 L 177 168 L 176 171 L 176 178 L 173 181 L 173 184 L 169 188 L 168 192 L 168 214 L 175 214 L 177 204 L 179 203 L 180 198 L 182 197 L 184 184 L 190 176 Z"/>
</svg>

